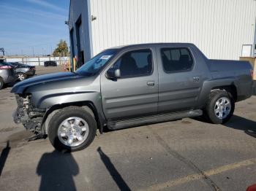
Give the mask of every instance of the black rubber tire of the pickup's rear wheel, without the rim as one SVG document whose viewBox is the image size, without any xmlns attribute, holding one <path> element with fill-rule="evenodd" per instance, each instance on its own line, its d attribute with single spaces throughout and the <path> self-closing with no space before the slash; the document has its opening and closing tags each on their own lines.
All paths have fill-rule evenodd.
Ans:
<svg viewBox="0 0 256 191">
<path fill-rule="evenodd" d="M 231 106 L 229 114 L 227 114 L 227 116 L 223 119 L 220 119 L 219 117 L 217 117 L 217 114 L 215 114 L 214 112 L 216 103 L 220 98 L 227 98 L 230 101 L 230 106 Z M 206 116 L 209 122 L 212 122 L 214 124 L 223 124 L 228 120 L 230 120 L 230 117 L 233 116 L 234 109 L 235 109 L 235 101 L 233 99 L 233 96 L 230 93 L 228 93 L 225 90 L 214 90 L 209 95 L 204 116 Z"/>
</svg>

